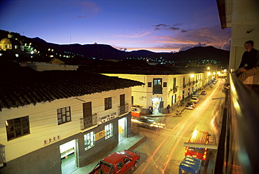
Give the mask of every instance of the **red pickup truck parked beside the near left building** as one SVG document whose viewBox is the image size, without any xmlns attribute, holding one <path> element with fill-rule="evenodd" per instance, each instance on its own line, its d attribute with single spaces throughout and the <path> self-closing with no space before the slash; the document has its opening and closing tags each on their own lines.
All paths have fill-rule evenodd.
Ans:
<svg viewBox="0 0 259 174">
<path fill-rule="evenodd" d="M 128 170 L 136 170 L 139 166 L 140 155 L 130 150 L 113 152 L 100 160 L 97 166 L 88 174 L 117 174 L 126 173 Z"/>
</svg>

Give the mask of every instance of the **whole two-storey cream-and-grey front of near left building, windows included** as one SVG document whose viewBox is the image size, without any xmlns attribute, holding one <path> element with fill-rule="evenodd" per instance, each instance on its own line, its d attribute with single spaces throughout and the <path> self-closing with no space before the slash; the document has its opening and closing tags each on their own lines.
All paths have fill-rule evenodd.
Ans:
<svg viewBox="0 0 259 174">
<path fill-rule="evenodd" d="M 4 103 L 1 100 L 1 173 L 62 173 L 62 170 L 67 172 L 63 161 L 71 156 L 73 159 L 69 170 L 72 172 L 92 163 L 129 137 L 132 86 L 141 85 L 141 82 L 109 76 L 103 78 L 102 81 L 109 81 L 104 82 L 107 89 L 104 90 L 100 86 L 101 81 L 95 86 L 99 91 L 97 93 L 75 96 L 73 92 L 85 93 L 83 88 L 79 88 L 87 86 L 81 79 L 79 83 L 82 83 L 82 86 L 79 86 L 79 83 L 74 85 L 74 89 L 66 86 L 66 93 L 62 92 L 68 96 L 66 98 L 60 97 L 27 105 L 22 104 L 25 101 L 20 100 L 22 102 L 18 103 L 19 101 L 15 100 L 15 105 L 20 105 L 19 107 L 6 107 L 4 104 L 8 101 Z M 71 81 L 75 82 L 76 80 Z M 113 86 L 116 83 L 119 87 Z M 52 88 L 54 90 L 55 84 Z M 89 90 L 92 88 L 91 84 Z M 4 87 L 1 90 L 4 91 Z M 10 95 L 15 94 L 6 96 Z M 28 91 L 24 97 L 32 100 L 32 95 Z M 48 98 L 44 91 L 41 95 Z"/>
</svg>

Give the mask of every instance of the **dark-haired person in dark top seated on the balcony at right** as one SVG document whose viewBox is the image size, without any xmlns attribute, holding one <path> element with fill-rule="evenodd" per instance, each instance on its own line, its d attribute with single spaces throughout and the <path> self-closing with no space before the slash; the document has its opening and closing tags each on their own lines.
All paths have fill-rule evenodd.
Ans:
<svg viewBox="0 0 259 174">
<path fill-rule="evenodd" d="M 246 41 L 244 48 L 246 51 L 242 55 L 239 69 L 236 71 L 237 79 L 244 82 L 248 76 L 259 74 L 259 51 L 253 48 L 253 41 Z M 245 67 L 245 65 L 247 65 Z"/>
</svg>

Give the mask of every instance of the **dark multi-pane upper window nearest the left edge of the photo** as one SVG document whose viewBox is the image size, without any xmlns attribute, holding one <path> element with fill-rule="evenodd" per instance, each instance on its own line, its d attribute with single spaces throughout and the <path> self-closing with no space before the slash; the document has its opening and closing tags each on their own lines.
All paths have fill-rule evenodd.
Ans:
<svg viewBox="0 0 259 174">
<path fill-rule="evenodd" d="M 29 116 L 6 120 L 7 140 L 29 134 Z"/>
</svg>

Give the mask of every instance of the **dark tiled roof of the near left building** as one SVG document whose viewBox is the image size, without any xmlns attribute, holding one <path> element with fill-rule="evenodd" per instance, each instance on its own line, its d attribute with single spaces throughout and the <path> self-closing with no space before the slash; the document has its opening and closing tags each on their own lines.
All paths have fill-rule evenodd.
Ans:
<svg viewBox="0 0 259 174">
<path fill-rule="evenodd" d="M 141 86 L 144 83 L 77 71 L 36 72 L 0 62 L 0 111 L 56 99 Z"/>
</svg>

